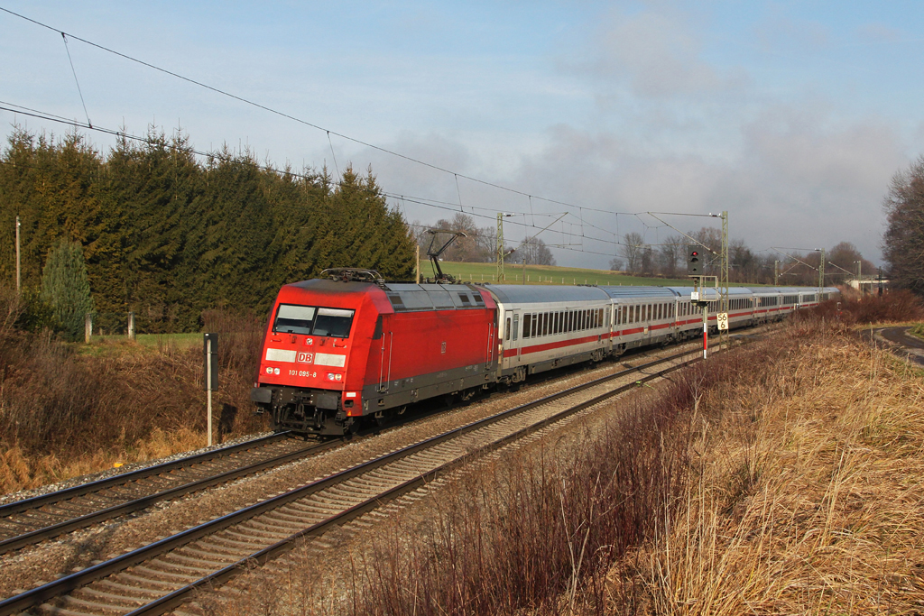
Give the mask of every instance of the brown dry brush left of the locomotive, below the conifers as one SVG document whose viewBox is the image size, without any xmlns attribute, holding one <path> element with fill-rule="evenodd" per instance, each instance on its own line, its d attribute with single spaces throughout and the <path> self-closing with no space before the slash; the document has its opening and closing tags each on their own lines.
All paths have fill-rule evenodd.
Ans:
<svg viewBox="0 0 924 616">
<path fill-rule="evenodd" d="M 205 445 L 201 350 L 110 344 L 80 355 L 50 333 L 13 327 L 21 307 L 0 289 L 0 492 L 188 451 Z M 203 315 L 219 333 L 222 436 L 259 429 L 249 387 L 262 323 L 221 311 Z M 223 405 L 225 421 L 219 418 Z M 216 433 L 217 433 L 216 428 Z"/>
</svg>

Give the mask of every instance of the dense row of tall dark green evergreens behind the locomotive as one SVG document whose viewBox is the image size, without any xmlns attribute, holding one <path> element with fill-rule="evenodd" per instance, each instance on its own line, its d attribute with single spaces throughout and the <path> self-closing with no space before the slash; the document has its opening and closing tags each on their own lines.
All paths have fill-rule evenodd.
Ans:
<svg viewBox="0 0 924 616">
<path fill-rule="evenodd" d="M 193 153 L 187 136 L 149 131 L 105 154 L 78 132 L 14 127 L 0 152 L 0 284 L 40 297 L 62 242 L 82 247 L 103 320 L 135 312 L 140 332 L 194 332 L 203 310 L 265 313 L 282 284 L 329 267 L 413 274 L 415 240 L 371 169 L 339 181 L 256 161 Z M 37 300 L 38 301 L 38 300 Z M 39 311 L 41 313 L 41 310 Z"/>
</svg>

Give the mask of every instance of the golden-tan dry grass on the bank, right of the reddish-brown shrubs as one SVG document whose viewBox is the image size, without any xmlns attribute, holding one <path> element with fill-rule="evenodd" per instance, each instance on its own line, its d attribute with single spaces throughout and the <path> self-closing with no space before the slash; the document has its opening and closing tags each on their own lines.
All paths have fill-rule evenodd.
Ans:
<svg viewBox="0 0 924 616">
<path fill-rule="evenodd" d="M 924 380 L 851 338 L 800 341 L 701 401 L 721 419 L 696 480 L 611 571 L 610 611 L 924 613 Z"/>
</svg>

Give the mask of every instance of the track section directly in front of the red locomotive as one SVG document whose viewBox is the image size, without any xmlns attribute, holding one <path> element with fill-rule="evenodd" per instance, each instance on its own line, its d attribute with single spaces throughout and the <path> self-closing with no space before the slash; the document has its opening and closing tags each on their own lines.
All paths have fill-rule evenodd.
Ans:
<svg viewBox="0 0 924 616">
<path fill-rule="evenodd" d="M 286 433 L 246 441 L 0 506 L 0 555 L 161 501 L 321 453 Z"/>
</svg>

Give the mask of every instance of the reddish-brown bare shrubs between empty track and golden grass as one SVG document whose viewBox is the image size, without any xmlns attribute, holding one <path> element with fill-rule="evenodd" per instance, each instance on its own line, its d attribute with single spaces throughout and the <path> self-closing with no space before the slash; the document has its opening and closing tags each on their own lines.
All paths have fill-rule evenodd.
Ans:
<svg viewBox="0 0 924 616">
<path fill-rule="evenodd" d="M 565 451 L 514 454 L 441 491 L 425 537 L 398 527 L 361 571 L 363 614 L 558 614 L 605 609 L 605 577 L 674 516 L 699 400 L 753 372 L 756 347 L 672 377 Z M 413 537 L 406 540 L 407 537 Z"/>
</svg>

